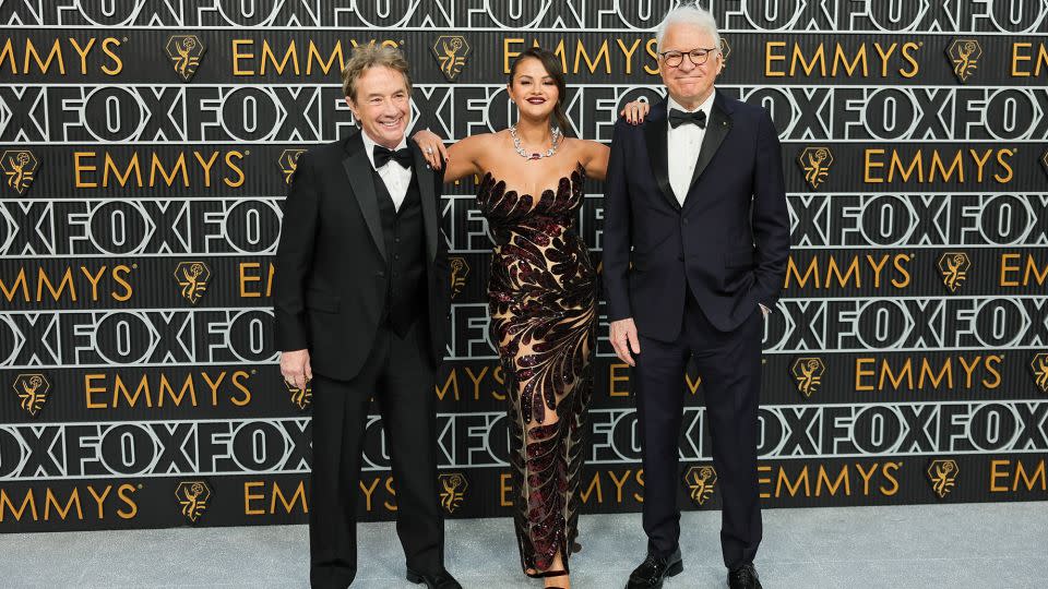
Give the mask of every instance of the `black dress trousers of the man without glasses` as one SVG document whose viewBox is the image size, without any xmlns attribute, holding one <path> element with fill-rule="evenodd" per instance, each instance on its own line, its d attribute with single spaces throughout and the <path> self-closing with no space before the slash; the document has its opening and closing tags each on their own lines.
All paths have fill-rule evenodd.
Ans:
<svg viewBox="0 0 1048 589">
<path fill-rule="evenodd" d="M 373 396 L 385 429 L 396 489 L 396 533 L 406 564 L 443 568 L 444 526 L 437 492 L 434 366 L 425 317 L 401 338 L 380 327 L 371 356 L 350 381 L 314 374 L 309 510 L 310 585 L 345 588 L 357 573 L 356 508 L 361 452 Z"/>
</svg>

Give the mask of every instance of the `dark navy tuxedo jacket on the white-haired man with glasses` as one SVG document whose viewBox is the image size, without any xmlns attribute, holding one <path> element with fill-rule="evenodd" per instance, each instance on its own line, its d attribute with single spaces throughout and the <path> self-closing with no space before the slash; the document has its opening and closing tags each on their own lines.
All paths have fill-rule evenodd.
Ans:
<svg viewBox="0 0 1048 589">
<path fill-rule="evenodd" d="M 666 105 L 640 125 L 620 119 L 615 127 L 604 285 L 609 321 L 633 317 L 642 335 L 672 341 L 688 288 L 723 332 L 758 303 L 773 308 L 786 276 L 789 215 L 771 118 L 719 92 L 681 206 L 667 171 Z"/>
</svg>

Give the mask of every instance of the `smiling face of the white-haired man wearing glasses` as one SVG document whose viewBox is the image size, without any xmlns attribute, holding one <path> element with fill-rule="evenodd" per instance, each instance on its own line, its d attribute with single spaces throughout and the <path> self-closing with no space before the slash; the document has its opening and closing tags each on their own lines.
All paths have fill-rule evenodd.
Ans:
<svg viewBox="0 0 1048 589">
<path fill-rule="evenodd" d="M 681 51 L 687 53 L 694 49 L 716 47 L 713 35 L 708 32 L 688 23 L 677 23 L 666 29 L 658 50 L 659 52 Z M 713 92 L 713 83 L 724 65 L 724 57 L 719 50 L 711 52 L 706 62 L 702 65 L 693 64 L 688 56 L 684 56 L 676 68 L 667 65 L 663 58 L 659 58 L 658 61 L 663 83 L 666 84 L 669 95 L 686 108 L 698 107 L 710 97 L 710 93 Z"/>
</svg>

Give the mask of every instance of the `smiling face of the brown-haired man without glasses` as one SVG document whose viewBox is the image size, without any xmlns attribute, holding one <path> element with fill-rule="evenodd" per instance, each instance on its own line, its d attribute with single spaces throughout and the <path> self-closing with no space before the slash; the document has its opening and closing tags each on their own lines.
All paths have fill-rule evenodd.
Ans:
<svg viewBox="0 0 1048 589">
<path fill-rule="evenodd" d="M 384 65 L 368 68 L 356 80 L 356 97 L 346 96 L 346 104 L 372 141 L 390 149 L 400 145 L 412 112 L 403 74 Z"/>
</svg>

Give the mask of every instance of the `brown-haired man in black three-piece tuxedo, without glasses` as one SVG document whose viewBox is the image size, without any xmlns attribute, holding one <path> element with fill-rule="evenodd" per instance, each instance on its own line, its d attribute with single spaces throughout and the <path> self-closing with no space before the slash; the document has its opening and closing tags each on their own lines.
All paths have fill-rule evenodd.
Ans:
<svg viewBox="0 0 1048 589">
<path fill-rule="evenodd" d="M 343 70 L 361 131 L 298 159 L 276 253 L 281 373 L 310 383 L 310 582 L 345 588 L 357 570 L 356 507 L 368 406 L 378 400 L 396 485 L 407 578 L 460 585 L 443 566 L 433 380 L 444 352 L 448 252 L 442 178 L 404 132 L 407 61 L 362 46 Z"/>
</svg>

